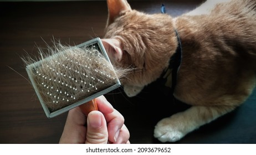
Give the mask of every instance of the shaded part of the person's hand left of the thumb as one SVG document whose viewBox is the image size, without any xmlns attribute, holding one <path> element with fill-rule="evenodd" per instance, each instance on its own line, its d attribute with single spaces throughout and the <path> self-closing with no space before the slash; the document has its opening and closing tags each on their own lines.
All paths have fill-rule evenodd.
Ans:
<svg viewBox="0 0 256 155">
<path fill-rule="evenodd" d="M 76 107 L 69 111 L 59 143 L 84 143 L 86 117 Z"/>
</svg>

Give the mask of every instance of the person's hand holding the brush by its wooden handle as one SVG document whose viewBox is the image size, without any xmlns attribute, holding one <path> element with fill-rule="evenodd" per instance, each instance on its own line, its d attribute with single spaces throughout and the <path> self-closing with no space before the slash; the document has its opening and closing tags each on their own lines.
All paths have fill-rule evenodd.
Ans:
<svg viewBox="0 0 256 155">
<path fill-rule="evenodd" d="M 104 96 L 96 98 L 99 111 L 88 117 L 79 107 L 69 111 L 59 143 L 130 143 L 124 117 Z"/>
</svg>

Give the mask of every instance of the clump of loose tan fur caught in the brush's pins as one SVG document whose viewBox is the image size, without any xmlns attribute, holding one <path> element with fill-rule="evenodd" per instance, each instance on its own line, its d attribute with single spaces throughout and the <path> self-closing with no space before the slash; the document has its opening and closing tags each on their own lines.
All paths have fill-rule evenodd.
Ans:
<svg viewBox="0 0 256 155">
<path fill-rule="evenodd" d="M 23 61 L 30 65 L 37 89 L 51 112 L 106 89 L 129 72 L 113 68 L 94 46 L 78 48 L 58 42 L 48 46 L 47 52 L 39 48 L 39 54 L 39 64 L 30 65 L 38 61 L 30 56 Z"/>
</svg>

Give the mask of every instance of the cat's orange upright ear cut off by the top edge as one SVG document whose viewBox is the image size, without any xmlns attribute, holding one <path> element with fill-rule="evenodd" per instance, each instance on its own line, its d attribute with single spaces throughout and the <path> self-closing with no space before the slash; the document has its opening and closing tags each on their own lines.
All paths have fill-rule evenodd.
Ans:
<svg viewBox="0 0 256 155">
<path fill-rule="evenodd" d="M 115 18 L 119 17 L 121 13 L 131 11 L 131 7 L 126 0 L 107 0 L 107 8 L 109 9 L 109 16 L 106 26 L 114 22 Z"/>
</svg>

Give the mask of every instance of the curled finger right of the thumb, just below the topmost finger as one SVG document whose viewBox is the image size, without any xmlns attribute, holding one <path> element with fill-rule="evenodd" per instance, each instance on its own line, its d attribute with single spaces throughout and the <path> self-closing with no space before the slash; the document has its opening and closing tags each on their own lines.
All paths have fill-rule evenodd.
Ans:
<svg viewBox="0 0 256 155">
<path fill-rule="evenodd" d="M 116 142 L 119 137 L 120 130 L 124 125 L 124 117 L 120 112 L 114 110 L 112 113 L 107 113 L 105 115 L 107 122 L 107 131 L 109 132 L 109 141 Z"/>
</svg>

